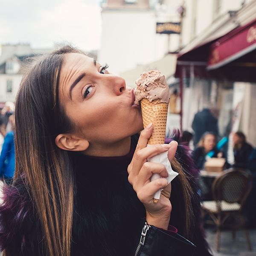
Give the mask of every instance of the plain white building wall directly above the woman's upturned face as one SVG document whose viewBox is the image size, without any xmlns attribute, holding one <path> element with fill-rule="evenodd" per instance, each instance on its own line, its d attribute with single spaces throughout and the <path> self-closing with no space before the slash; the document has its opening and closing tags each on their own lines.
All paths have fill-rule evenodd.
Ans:
<svg viewBox="0 0 256 256">
<path fill-rule="evenodd" d="M 168 37 L 156 34 L 159 3 L 149 0 L 108 0 L 102 4 L 99 62 L 120 74 L 162 58 Z"/>
</svg>

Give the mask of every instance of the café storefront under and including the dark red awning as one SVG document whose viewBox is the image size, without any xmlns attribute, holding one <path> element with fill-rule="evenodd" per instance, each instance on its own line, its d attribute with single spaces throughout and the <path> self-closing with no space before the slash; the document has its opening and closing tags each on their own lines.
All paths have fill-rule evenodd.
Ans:
<svg viewBox="0 0 256 256">
<path fill-rule="evenodd" d="M 256 4 L 249 7 L 230 13 L 223 26 L 178 55 L 183 130 L 208 105 L 216 110 L 221 136 L 239 129 L 256 146 Z"/>
</svg>

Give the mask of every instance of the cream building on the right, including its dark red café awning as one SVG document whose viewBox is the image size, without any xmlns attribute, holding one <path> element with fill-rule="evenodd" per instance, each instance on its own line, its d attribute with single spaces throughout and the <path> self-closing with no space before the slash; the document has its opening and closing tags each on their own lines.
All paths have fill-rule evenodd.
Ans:
<svg viewBox="0 0 256 256">
<path fill-rule="evenodd" d="M 256 1 L 195 0 L 185 1 L 184 8 L 182 47 L 176 69 L 183 91 L 183 130 L 191 130 L 196 112 L 210 107 L 218 116 L 221 137 L 230 131 L 241 130 L 247 140 L 256 146 L 252 113 L 256 84 L 250 75 L 253 73 L 252 65 L 255 65 L 254 39 L 249 40 L 250 47 L 237 50 L 223 60 L 218 52 L 218 47 L 225 45 L 229 38 L 231 44 L 226 52 L 239 48 L 244 41 L 240 38 L 239 42 L 235 37 L 239 38 L 243 31 L 249 35 L 247 29 L 255 30 Z M 248 38 L 244 40 L 248 41 Z"/>
</svg>

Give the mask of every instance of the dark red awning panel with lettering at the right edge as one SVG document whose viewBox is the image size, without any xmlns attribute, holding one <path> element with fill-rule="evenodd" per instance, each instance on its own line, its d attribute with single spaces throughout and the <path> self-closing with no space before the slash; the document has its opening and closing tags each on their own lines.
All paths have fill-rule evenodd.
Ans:
<svg viewBox="0 0 256 256">
<path fill-rule="evenodd" d="M 234 29 L 209 48 L 207 70 L 215 70 L 256 49 L 256 19 Z"/>
</svg>

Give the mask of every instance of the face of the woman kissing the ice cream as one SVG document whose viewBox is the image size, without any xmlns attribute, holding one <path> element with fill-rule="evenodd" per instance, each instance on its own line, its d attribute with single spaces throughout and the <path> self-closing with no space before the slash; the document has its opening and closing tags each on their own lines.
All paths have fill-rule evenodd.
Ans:
<svg viewBox="0 0 256 256">
<path fill-rule="evenodd" d="M 65 55 L 59 100 L 76 126 L 75 133 L 90 144 L 116 143 L 143 129 L 133 90 L 86 55 Z"/>
</svg>

